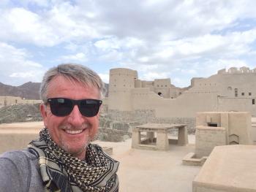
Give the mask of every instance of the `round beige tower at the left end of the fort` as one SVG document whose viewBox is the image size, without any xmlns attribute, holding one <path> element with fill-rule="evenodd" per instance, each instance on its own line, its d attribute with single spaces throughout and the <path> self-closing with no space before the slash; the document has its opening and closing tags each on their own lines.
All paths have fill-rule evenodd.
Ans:
<svg viewBox="0 0 256 192">
<path fill-rule="evenodd" d="M 108 110 L 131 111 L 131 89 L 135 88 L 138 73 L 132 69 L 110 69 Z"/>
</svg>

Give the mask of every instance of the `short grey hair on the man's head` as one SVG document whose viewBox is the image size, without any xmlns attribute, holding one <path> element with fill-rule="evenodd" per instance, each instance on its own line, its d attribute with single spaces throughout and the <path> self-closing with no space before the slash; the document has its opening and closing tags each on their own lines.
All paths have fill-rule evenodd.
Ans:
<svg viewBox="0 0 256 192">
<path fill-rule="evenodd" d="M 104 86 L 99 75 L 86 66 L 79 64 L 60 64 L 45 72 L 40 86 L 40 99 L 47 103 L 48 86 L 56 76 L 63 76 L 69 80 L 82 82 L 84 85 L 95 87 L 99 90 L 99 97 L 102 98 Z"/>
</svg>

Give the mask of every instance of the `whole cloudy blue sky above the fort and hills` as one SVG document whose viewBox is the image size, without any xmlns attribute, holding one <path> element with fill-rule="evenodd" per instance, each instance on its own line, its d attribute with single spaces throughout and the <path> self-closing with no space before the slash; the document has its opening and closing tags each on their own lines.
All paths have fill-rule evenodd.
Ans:
<svg viewBox="0 0 256 192">
<path fill-rule="evenodd" d="M 256 1 L 1 0 L 0 82 L 41 82 L 61 63 L 138 71 L 190 85 L 232 66 L 256 67 Z"/>
</svg>

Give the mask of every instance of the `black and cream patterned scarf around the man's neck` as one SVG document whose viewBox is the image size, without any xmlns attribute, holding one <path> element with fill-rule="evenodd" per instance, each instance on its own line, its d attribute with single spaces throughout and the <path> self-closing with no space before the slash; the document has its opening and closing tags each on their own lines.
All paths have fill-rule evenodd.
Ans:
<svg viewBox="0 0 256 192">
<path fill-rule="evenodd" d="M 39 158 L 42 180 L 48 191 L 118 191 L 119 163 L 104 153 L 102 147 L 89 144 L 86 161 L 81 161 L 56 145 L 47 128 L 39 136 L 39 140 L 29 144 L 29 150 Z"/>
</svg>

